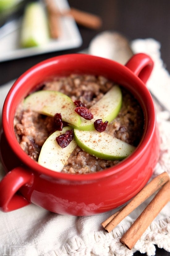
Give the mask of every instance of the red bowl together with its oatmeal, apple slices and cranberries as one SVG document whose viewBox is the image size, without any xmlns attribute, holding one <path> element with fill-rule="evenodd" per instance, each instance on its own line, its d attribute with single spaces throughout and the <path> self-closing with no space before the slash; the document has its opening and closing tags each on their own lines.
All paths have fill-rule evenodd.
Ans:
<svg viewBox="0 0 170 256">
<path fill-rule="evenodd" d="M 126 66 L 70 54 L 22 74 L 2 111 L 0 156 L 8 173 L 0 182 L 0 209 L 32 202 L 87 216 L 134 197 L 159 158 L 155 106 L 145 86 L 152 68 L 142 53 Z M 60 168 L 49 168 L 56 163 Z"/>
</svg>

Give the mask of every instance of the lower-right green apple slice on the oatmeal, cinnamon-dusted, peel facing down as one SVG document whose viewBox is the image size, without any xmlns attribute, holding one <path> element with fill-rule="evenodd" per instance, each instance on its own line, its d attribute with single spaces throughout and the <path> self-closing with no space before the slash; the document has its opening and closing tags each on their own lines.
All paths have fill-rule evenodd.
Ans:
<svg viewBox="0 0 170 256">
<path fill-rule="evenodd" d="M 77 145 L 84 151 L 106 160 L 122 160 L 135 150 L 134 146 L 106 132 L 74 129 L 74 138 Z"/>
</svg>

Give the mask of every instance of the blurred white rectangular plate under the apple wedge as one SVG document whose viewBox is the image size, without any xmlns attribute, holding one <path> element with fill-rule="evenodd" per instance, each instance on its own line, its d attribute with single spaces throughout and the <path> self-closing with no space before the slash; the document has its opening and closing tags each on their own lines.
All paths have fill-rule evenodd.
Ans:
<svg viewBox="0 0 170 256">
<path fill-rule="evenodd" d="M 67 0 L 55 0 L 60 11 L 69 9 Z M 58 39 L 50 39 L 43 47 L 19 47 L 20 28 L 0 39 L 0 62 L 79 47 L 82 38 L 75 20 L 71 16 L 60 18 L 61 36 Z M 19 26 L 20 27 L 20 26 Z"/>
</svg>

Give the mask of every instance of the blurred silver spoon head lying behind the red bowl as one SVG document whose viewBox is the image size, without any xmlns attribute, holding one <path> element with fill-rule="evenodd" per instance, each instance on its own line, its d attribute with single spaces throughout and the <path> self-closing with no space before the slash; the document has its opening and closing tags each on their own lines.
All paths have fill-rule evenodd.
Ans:
<svg viewBox="0 0 170 256">
<path fill-rule="evenodd" d="M 89 54 L 112 59 L 123 65 L 133 56 L 127 38 L 114 31 L 96 35 L 89 44 Z"/>
</svg>

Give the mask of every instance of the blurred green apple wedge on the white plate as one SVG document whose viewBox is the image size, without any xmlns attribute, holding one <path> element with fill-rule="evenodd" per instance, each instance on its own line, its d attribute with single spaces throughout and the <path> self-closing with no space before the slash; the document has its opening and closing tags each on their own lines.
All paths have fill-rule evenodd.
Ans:
<svg viewBox="0 0 170 256">
<path fill-rule="evenodd" d="M 28 3 L 21 27 L 22 47 L 41 46 L 49 41 L 48 21 L 40 2 Z"/>
</svg>

